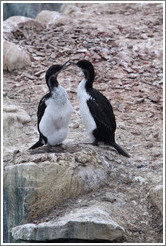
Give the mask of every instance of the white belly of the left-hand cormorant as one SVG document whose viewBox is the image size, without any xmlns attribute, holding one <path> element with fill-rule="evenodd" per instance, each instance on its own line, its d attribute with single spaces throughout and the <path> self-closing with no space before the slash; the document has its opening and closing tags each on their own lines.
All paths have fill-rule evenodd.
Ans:
<svg viewBox="0 0 166 246">
<path fill-rule="evenodd" d="M 39 124 L 39 129 L 47 137 L 48 144 L 58 145 L 66 139 L 71 112 L 72 106 L 69 101 L 63 106 L 58 106 L 53 101 L 48 104 Z"/>
</svg>

